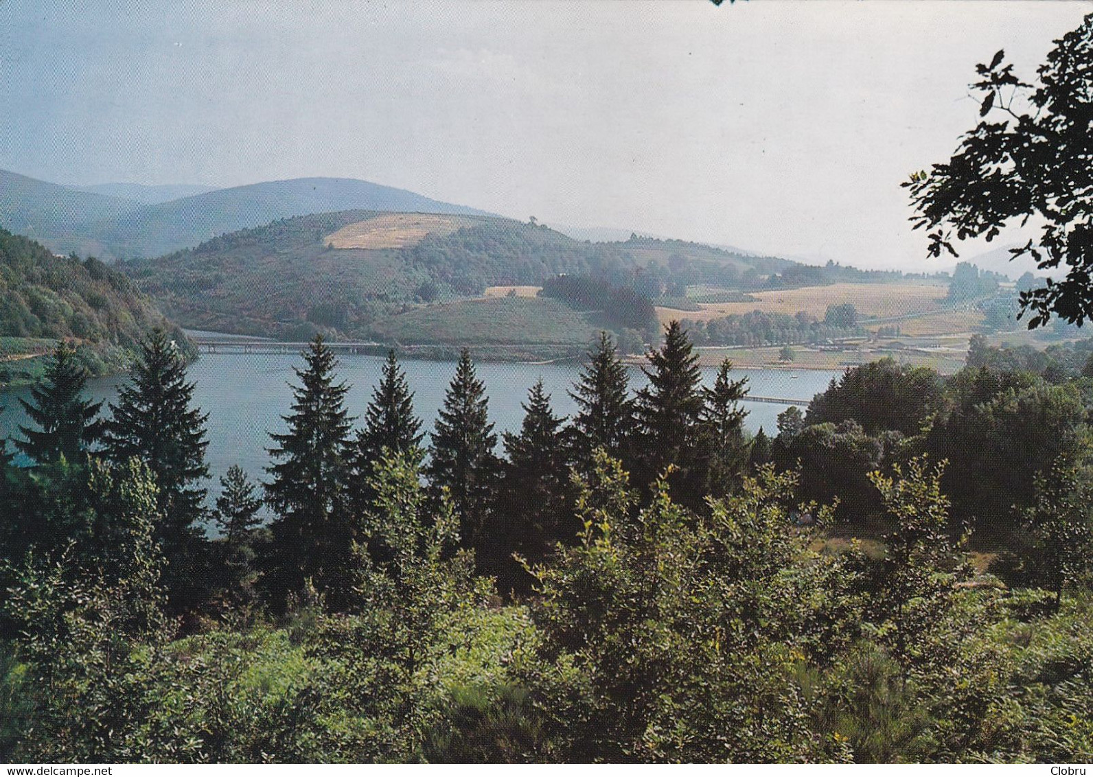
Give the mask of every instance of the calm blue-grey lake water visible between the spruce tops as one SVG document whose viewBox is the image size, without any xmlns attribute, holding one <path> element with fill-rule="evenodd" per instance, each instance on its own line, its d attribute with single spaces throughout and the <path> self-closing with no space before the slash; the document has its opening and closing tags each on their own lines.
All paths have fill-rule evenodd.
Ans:
<svg viewBox="0 0 1093 777">
<path fill-rule="evenodd" d="M 339 357 L 338 375 L 351 388 L 346 399 L 349 411 L 363 416 L 373 387 L 378 382 L 384 360 L 378 356 L 344 355 Z M 266 448 L 270 445 L 270 431 L 284 431 L 281 415 L 287 412 L 292 399 L 289 381 L 295 380 L 293 366 L 302 367 L 303 358 L 286 354 L 202 354 L 189 368 L 189 377 L 197 384 L 196 403 L 209 413 L 209 467 L 212 480 L 210 504 L 220 492 L 219 478 L 232 464 L 239 464 L 252 479 L 265 476 L 263 467 L 269 462 Z M 433 428 L 436 411 L 444 402 L 444 392 L 455 374 L 455 362 L 425 362 L 407 360 L 402 363 L 413 389 L 418 413 L 425 421 L 425 428 Z M 479 363 L 479 377 L 485 381 L 490 396 L 490 416 L 498 434 L 519 429 L 524 419 L 520 403 L 528 389 L 541 376 L 552 395 L 557 413 L 574 412 L 574 402 L 567 390 L 580 372 L 576 364 L 512 364 Z M 704 368 L 707 382 L 713 382 L 716 370 Z M 794 378 L 791 376 L 796 375 Z M 832 377 L 841 372 L 784 369 L 740 369 L 737 377 L 747 376 L 752 393 L 788 399 L 811 399 L 823 391 Z M 89 392 L 96 399 L 113 401 L 124 376 L 103 378 L 89 382 Z M 632 368 L 631 386 L 643 386 L 645 377 L 637 366 Z M 16 397 L 27 397 L 28 389 L 0 392 L 0 404 L 7 410 L 0 414 L 0 437 L 17 435 L 17 426 L 26 424 L 22 405 Z M 761 426 L 768 433 L 775 429 L 775 420 L 786 405 L 745 402 L 749 411 L 748 428 Z M 803 410 L 803 408 L 802 408 Z M 498 451 L 500 452 L 500 451 Z"/>
</svg>

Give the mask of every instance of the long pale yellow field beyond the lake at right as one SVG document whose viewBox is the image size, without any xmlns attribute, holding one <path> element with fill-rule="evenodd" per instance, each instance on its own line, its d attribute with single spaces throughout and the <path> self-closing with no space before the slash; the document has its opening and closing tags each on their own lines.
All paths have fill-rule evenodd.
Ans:
<svg viewBox="0 0 1093 777">
<path fill-rule="evenodd" d="M 657 316 L 662 321 L 673 318 L 708 320 L 752 310 L 790 316 L 804 310 L 822 319 L 828 305 L 849 303 L 858 309 L 859 316 L 885 318 L 936 308 L 944 302 L 947 292 L 944 285 L 935 283 L 834 283 L 830 286 L 749 292 L 755 302 L 703 304 L 702 310 L 697 311 L 657 308 Z"/>
</svg>

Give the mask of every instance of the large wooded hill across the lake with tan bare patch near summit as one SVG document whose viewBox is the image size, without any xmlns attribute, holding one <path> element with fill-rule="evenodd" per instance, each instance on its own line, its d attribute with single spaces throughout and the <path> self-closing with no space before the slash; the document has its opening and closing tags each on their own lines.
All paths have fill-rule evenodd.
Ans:
<svg viewBox="0 0 1093 777">
<path fill-rule="evenodd" d="M 795 267 L 776 257 L 743 257 L 682 240 L 592 244 L 498 216 L 376 211 L 279 220 L 121 264 L 185 327 L 293 340 L 322 331 L 402 341 L 412 332 L 415 343 L 450 342 L 444 316 L 422 313 L 425 306 L 478 297 L 489 286 L 542 285 L 560 273 L 632 287 L 659 283 L 661 273 L 690 273 L 696 282 L 739 281 Z M 513 306 L 540 320 L 550 307 L 521 305 L 495 307 Z M 485 315 L 487 308 L 494 310 L 489 305 L 458 309 L 466 318 Z M 485 316 L 481 323 L 489 329 L 491 320 Z M 584 342 L 586 333 L 577 339 Z"/>
</svg>

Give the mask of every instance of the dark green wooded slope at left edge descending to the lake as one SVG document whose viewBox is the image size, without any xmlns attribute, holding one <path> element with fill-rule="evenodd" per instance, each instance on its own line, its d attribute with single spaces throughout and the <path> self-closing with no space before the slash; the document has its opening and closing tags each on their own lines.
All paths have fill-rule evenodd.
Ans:
<svg viewBox="0 0 1093 777">
<path fill-rule="evenodd" d="M 27 356 L 47 352 L 59 338 L 80 344 L 92 374 L 117 372 L 152 327 L 173 331 L 190 351 L 181 331 L 118 270 L 96 259 L 56 257 L 0 229 L 0 386 L 35 379 L 42 360 Z"/>
</svg>

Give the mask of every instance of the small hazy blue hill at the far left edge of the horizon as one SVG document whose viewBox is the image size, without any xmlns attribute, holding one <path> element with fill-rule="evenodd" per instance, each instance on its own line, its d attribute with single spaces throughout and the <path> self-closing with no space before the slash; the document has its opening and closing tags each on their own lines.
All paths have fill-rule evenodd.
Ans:
<svg viewBox="0 0 1093 777">
<path fill-rule="evenodd" d="M 0 227 L 40 240 L 59 254 L 93 248 L 91 224 L 140 207 L 133 200 L 0 170 Z"/>
</svg>

